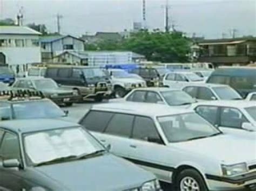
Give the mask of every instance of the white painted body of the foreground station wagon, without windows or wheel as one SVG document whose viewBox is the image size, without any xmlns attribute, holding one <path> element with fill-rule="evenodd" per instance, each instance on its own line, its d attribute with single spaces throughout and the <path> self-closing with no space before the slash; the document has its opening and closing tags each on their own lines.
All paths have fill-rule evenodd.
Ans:
<svg viewBox="0 0 256 191">
<path fill-rule="evenodd" d="M 210 190 L 234 190 L 256 183 L 256 179 L 252 178 L 256 175 L 256 155 L 254 152 L 256 145 L 253 144 L 252 140 L 230 135 L 218 135 L 176 143 L 170 143 L 167 140 L 158 122 L 158 117 L 194 114 L 193 110 L 171 109 L 160 104 L 126 102 L 98 104 L 92 107 L 90 111 L 150 118 L 158 135 L 163 139 L 163 144 L 104 132 L 91 131 L 91 133 L 100 142 L 111 144 L 111 152 L 153 172 L 161 181 L 174 183 L 174 178 L 180 171 L 193 168 L 200 173 Z M 201 120 L 204 121 L 203 118 Z M 80 121 L 82 125 L 83 121 L 86 122 L 86 116 Z M 205 123 L 207 122 L 205 121 Z M 222 165 L 233 165 L 240 162 L 246 162 L 246 166 L 250 170 L 230 177 L 223 174 Z"/>
</svg>

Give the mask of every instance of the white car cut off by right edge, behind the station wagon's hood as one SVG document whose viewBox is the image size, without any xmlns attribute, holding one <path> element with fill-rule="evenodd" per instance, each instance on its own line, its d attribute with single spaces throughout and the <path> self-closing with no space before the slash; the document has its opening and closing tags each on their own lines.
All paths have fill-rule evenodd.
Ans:
<svg viewBox="0 0 256 191">
<path fill-rule="evenodd" d="M 216 109 L 216 116 L 211 114 L 207 116 L 207 108 Z M 247 108 L 255 108 L 255 116 L 251 115 Z M 218 127 L 224 133 L 236 136 L 236 137 L 244 137 L 251 138 L 254 140 L 254 144 L 256 145 L 256 104 L 250 101 L 244 100 L 231 100 L 231 101 L 208 101 L 208 102 L 199 102 L 193 105 L 193 109 L 202 117 L 204 117 L 209 122 L 211 118 L 215 117 L 215 122 L 212 122 L 212 125 Z M 201 110 L 200 110 L 201 109 Z M 222 120 L 224 119 L 224 114 L 228 114 L 227 112 L 237 112 L 239 118 L 241 118 L 241 124 L 237 126 L 227 126 Z M 220 114 L 219 114 L 220 113 Z M 207 119 L 208 118 L 208 119 Z M 235 119 L 228 118 L 230 120 L 230 124 L 232 124 L 232 120 L 234 122 Z M 244 123 L 249 123 L 250 129 L 247 129 L 243 126 L 242 121 Z M 210 122 L 211 123 L 211 122 Z M 226 124 L 226 125 L 224 125 Z M 248 124 L 247 124 L 248 126 Z M 255 151 L 256 152 L 256 151 Z"/>
</svg>

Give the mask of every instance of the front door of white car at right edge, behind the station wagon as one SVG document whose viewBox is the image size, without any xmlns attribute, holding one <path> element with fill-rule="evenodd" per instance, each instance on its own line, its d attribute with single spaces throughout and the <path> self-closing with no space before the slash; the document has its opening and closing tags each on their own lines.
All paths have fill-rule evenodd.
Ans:
<svg viewBox="0 0 256 191">
<path fill-rule="evenodd" d="M 219 115 L 219 129 L 227 134 L 247 137 L 248 131 L 242 129 L 242 123 L 248 119 L 237 108 L 221 107 Z"/>
</svg>

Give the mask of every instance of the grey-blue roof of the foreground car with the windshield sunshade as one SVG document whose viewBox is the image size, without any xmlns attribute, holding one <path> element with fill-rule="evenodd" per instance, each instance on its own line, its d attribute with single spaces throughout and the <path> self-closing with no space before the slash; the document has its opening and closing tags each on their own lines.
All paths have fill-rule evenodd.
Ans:
<svg viewBox="0 0 256 191">
<path fill-rule="evenodd" d="M 66 122 L 59 119 L 15 119 L 2 121 L 0 128 L 8 129 L 17 133 L 29 133 L 41 130 L 51 130 L 59 128 L 70 128 L 79 126 L 73 122 Z"/>
</svg>

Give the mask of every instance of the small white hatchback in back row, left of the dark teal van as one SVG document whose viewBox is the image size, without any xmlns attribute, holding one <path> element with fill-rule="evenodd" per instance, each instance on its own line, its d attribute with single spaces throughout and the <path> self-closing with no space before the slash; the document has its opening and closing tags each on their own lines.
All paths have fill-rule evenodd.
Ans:
<svg viewBox="0 0 256 191">
<path fill-rule="evenodd" d="M 193 81 L 190 75 L 196 77 L 197 81 Z M 187 83 L 204 83 L 204 79 L 193 72 L 171 72 L 165 74 L 163 79 L 164 86 L 170 88 L 180 89 Z"/>
</svg>

